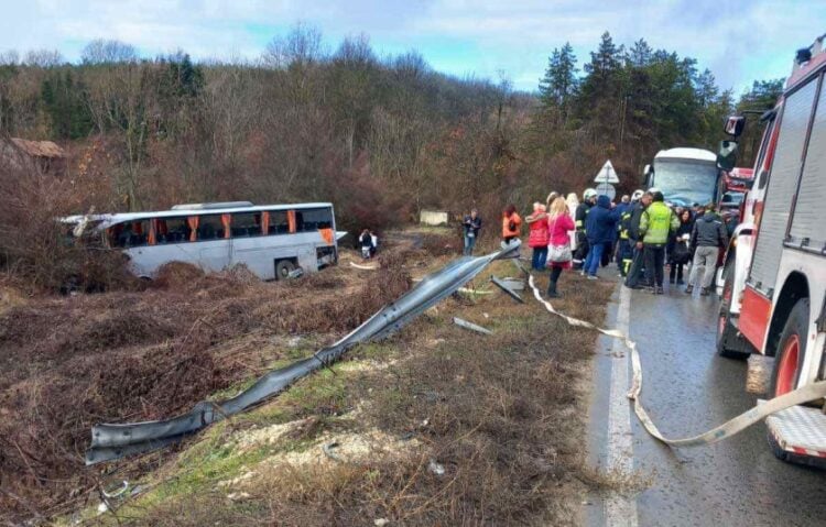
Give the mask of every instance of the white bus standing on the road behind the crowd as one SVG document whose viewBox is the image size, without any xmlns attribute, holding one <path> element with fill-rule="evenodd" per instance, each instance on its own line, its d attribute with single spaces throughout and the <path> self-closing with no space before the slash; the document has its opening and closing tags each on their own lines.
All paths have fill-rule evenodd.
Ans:
<svg viewBox="0 0 826 527">
<path fill-rule="evenodd" d="M 654 156 L 653 165 L 646 165 L 645 184 L 655 187 L 665 201 L 692 207 L 717 200 L 720 171 L 717 155 L 703 149 L 661 150 Z"/>
</svg>

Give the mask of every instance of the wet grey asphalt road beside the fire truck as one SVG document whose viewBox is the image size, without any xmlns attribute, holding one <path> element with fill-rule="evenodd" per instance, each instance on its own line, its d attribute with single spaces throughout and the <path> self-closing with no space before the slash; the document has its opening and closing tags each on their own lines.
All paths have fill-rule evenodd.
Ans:
<svg viewBox="0 0 826 527">
<path fill-rule="evenodd" d="M 746 362 L 715 353 L 716 297 L 674 288 L 624 295 L 618 286 L 606 323 L 629 326 L 641 353 L 642 402 L 664 436 L 695 436 L 756 404 L 745 389 Z M 624 398 L 629 353 L 607 338 L 597 351 L 590 463 L 649 483 L 641 492 L 593 496 L 584 504 L 586 524 L 826 525 L 826 472 L 774 458 L 762 422 L 713 446 L 672 450 L 645 432 Z"/>
</svg>

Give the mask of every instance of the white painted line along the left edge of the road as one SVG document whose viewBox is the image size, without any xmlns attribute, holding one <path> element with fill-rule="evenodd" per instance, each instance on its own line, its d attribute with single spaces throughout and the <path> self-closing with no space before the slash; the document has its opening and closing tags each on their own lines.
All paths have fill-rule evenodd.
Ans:
<svg viewBox="0 0 826 527">
<path fill-rule="evenodd" d="M 620 304 L 617 311 L 617 329 L 629 334 L 631 289 L 620 285 Z M 611 386 L 608 403 L 608 470 L 622 475 L 633 472 L 633 436 L 631 433 L 631 406 L 628 393 L 628 364 L 621 340 L 611 343 Z M 605 503 L 606 525 L 609 527 L 637 527 L 637 499 L 619 493 L 610 495 Z"/>
</svg>

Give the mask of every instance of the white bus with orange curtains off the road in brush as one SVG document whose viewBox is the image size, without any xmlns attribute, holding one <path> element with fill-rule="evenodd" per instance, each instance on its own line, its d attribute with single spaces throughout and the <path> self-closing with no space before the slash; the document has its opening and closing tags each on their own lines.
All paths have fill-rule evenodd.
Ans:
<svg viewBox="0 0 826 527">
<path fill-rule="evenodd" d="M 169 262 L 207 272 L 244 264 L 261 279 L 284 279 L 298 268 L 312 273 L 338 261 L 332 204 L 191 204 L 61 221 L 73 227 L 75 237 L 89 230 L 100 234 L 104 246 L 121 250 L 130 271 L 142 278 L 155 277 Z"/>
</svg>

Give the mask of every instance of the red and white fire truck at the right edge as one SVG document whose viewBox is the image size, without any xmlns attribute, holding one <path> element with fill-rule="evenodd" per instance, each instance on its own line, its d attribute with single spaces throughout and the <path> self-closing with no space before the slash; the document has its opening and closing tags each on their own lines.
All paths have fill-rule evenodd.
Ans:
<svg viewBox="0 0 826 527">
<path fill-rule="evenodd" d="M 783 96 L 761 118 L 754 182 L 717 284 L 717 350 L 774 356 L 770 397 L 826 378 L 825 37 L 797 52 Z M 743 125 L 729 118 L 726 132 L 737 138 Z M 823 464 L 823 400 L 774 414 L 767 427 L 779 458 Z"/>
</svg>

